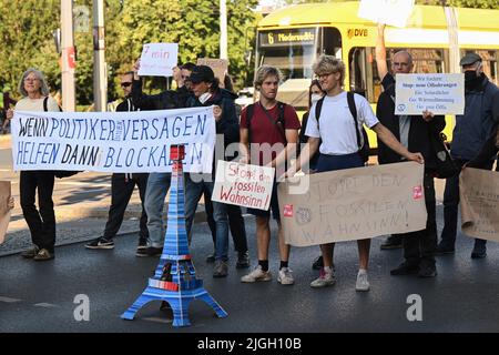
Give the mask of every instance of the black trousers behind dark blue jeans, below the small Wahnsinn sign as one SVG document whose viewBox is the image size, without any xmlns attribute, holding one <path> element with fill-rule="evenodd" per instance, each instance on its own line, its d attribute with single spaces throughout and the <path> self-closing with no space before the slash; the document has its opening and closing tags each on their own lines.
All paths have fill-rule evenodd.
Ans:
<svg viewBox="0 0 499 355">
<path fill-rule="evenodd" d="M 213 204 L 212 196 L 208 193 L 204 193 L 204 209 L 206 211 L 206 219 L 212 232 L 213 244 L 215 244 L 216 225 L 213 220 Z M 233 204 L 226 204 L 228 227 L 231 229 L 232 240 L 234 242 L 234 248 L 237 253 L 247 252 L 247 237 L 246 225 L 244 224 L 243 212 L 240 206 Z"/>
</svg>

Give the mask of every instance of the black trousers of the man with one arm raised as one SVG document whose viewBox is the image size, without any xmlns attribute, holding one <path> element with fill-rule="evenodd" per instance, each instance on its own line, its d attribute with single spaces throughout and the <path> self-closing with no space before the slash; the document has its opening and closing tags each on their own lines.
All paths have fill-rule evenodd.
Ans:
<svg viewBox="0 0 499 355">
<path fill-rule="evenodd" d="M 424 189 L 426 211 L 428 213 L 426 229 L 397 235 L 403 236 L 404 257 L 408 263 L 435 265 L 435 251 L 437 248 L 435 181 L 428 173 L 425 173 Z"/>
</svg>

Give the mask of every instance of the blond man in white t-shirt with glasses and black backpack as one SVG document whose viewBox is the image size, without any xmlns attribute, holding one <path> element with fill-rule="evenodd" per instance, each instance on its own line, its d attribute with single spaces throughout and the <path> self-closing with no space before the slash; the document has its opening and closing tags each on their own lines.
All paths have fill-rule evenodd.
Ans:
<svg viewBox="0 0 499 355">
<path fill-rule="evenodd" d="M 358 94 L 354 94 L 357 111 L 357 126 L 355 125 L 355 120 L 348 106 L 347 92 L 343 90 L 345 64 L 340 60 L 323 54 L 314 63 L 313 69 L 319 79 L 322 89 L 326 92 L 326 97 L 324 97 L 324 101 L 314 104 L 310 110 L 305 131 L 305 134 L 309 136 L 308 143 L 297 159 L 296 166 L 289 170 L 288 175 L 307 164 L 317 149 L 320 152 L 317 172 L 364 166 L 356 132 L 356 130 L 360 132 L 363 124 L 375 131 L 378 139 L 401 156 L 409 161 L 424 162 L 420 153 L 410 153 L 389 130 L 379 123 L 367 100 Z M 322 104 L 319 122 L 317 122 L 315 113 L 318 104 Z M 357 291 L 369 290 L 367 280 L 369 247 L 369 239 L 358 241 L 360 265 L 357 274 Z M 319 277 L 310 283 L 312 287 L 332 286 L 336 282 L 333 270 L 334 243 L 320 245 L 320 251 L 324 267 L 320 270 Z"/>
</svg>

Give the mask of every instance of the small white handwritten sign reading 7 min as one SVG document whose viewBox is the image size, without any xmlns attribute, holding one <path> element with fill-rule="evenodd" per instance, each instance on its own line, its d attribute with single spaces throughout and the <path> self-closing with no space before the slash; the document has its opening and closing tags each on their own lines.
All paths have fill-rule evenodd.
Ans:
<svg viewBox="0 0 499 355">
<path fill-rule="evenodd" d="M 141 77 L 172 77 L 179 57 L 177 43 L 147 43 L 142 48 Z"/>
</svg>

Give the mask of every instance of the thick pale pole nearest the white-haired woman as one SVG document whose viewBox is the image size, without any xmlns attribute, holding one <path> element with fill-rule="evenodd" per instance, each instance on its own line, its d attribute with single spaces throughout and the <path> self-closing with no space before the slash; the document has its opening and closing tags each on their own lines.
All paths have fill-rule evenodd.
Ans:
<svg viewBox="0 0 499 355">
<path fill-rule="evenodd" d="M 62 109 L 74 112 L 74 40 L 73 40 L 73 1 L 61 0 L 61 82 Z"/>
</svg>

